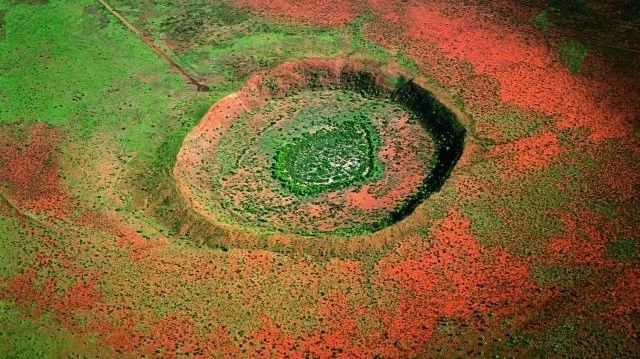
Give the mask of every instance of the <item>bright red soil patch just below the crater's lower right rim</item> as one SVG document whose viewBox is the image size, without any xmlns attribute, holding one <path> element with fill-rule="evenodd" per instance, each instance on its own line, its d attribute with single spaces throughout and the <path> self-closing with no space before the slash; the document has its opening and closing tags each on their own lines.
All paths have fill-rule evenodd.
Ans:
<svg viewBox="0 0 640 359">
<path fill-rule="evenodd" d="M 478 313 L 513 313 L 536 293 L 528 264 L 501 249 L 479 247 L 470 225 L 452 212 L 435 228 L 433 244 L 408 242 L 380 262 L 378 280 L 403 289 L 385 326 L 405 350 L 423 347 L 438 318 L 473 321 Z"/>
</svg>

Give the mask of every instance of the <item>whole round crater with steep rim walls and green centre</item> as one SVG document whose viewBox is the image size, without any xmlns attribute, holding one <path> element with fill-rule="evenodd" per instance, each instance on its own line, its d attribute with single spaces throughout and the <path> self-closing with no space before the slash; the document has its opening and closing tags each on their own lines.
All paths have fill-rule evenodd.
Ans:
<svg viewBox="0 0 640 359">
<path fill-rule="evenodd" d="M 216 224 L 356 234 L 437 191 L 464 129 L 426 89 L 351 60 L 308 59 L 252 77 L 185 138 L 180 194 Z"/>
</svg>

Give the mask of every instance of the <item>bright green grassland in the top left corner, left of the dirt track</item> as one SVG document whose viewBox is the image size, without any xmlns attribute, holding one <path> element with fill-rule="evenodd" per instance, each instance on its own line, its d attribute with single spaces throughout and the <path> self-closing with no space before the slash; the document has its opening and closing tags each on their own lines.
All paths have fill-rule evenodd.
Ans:
<svg viewBox="0 0 640 359">
<path fill-rule="evenodd" d="M 93 15 L 98 10 L 87 12 L 91 5 L 8 9 L 0 123 L 46 122 L 87 140 L 104 131 L 124 151 L 148 159 L 195 91 L 118 22 L 102 26 Z"/>
</svg>

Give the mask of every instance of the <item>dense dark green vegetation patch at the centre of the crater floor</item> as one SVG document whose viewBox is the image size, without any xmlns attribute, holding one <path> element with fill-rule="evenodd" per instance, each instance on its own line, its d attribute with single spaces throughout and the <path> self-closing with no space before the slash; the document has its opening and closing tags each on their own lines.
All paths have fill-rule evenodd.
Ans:
<svg viewBox="0 0 640 359">
<path fill-rule="evenodd" d="M 283 146 L 276 154 L 273 173 L 299 195 L 344 189 L 372 177 L 378 142 L 376 129 L 361 116 Z"/>
</svg>

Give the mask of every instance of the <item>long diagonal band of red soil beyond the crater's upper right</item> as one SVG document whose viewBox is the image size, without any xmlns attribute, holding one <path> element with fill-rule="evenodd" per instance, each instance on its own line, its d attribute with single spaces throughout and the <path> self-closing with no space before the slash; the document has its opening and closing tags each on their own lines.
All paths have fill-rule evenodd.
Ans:
<svg viewBox="0 0 640 359">
<path fill-rule="evenodd" d="M 421 56 L 425 43 L 435 44 L 447 56 L 497 80 L 502 101 L 557 116 L 560 129 L 587 128 L 593 141 L 633 133 L 637 105 L 610 108 L 612 99 L 625 96 L 626 90 L 609 88 L 600 79 L 572 76 L 540 37 L 505 32 L 502 24 L 482 17 L 486 14 L 463 6 L 410 5 L 405 11 L 408 19 L 402 25 L 414 56 Z"/>
</svg>

